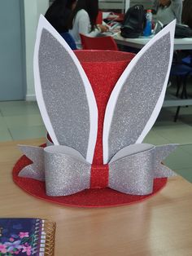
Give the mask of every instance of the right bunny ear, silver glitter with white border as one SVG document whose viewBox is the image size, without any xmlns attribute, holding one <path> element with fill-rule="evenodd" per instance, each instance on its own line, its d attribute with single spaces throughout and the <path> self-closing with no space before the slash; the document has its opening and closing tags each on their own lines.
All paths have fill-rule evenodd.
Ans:
<svg viewBox="0 0 192 256">
<path fill-rule="evenodd" d="M 154 125 L 172 64 L 175 24 L 174 20 L 152 38 L 116 83 L 104 119 L 104 163 L 121 148 L 142 143 Z"/>
</svg>

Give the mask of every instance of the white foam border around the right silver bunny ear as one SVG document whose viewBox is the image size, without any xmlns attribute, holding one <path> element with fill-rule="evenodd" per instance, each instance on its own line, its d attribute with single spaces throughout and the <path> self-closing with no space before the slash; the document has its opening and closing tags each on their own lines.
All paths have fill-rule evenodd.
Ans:
<svg viewBox="0 0 192 256">
<path fill-rule="evenodd" d="M 124 85 L 124 82 L 129 77 L 129 74 L 137 64 L 137 61 L 141 58 L 141 56 L 153 45 L 159 38 L 164 37 L 165 34 L 170 33 L 170 40 L 171 40 L 171 49 L 170 49 L 170 56 L 169 56 L 169 64 L 168 64 L 168 71 L 164 80 L 164 86 L 157 101 L 157 104 L 154 108 L 153 113 L 151 114 L 150 119 L 147 121 L 146 126 L 142 130 L 142 134 L 138 137 L 136 143 L 142 143 L 142 140 L 145 138 L 147 133 L 151 130 L 151 127 L 154 125 L 156 118 L 159 115 L 160 109 L 164 103 L 164 95 L 166 92 L 167 84 L 168 84 L 168 77 L 172 65 L 172 55 L 173 55 L 173 46 L 174 46 L 174 34 L 175 34 L 175 25 L 176 20 L 173 20 L 170 24 L 168 24 L 164 29 L 162 29 L 159 33 L 155 35 L 154 38 L 146 44 L 146 46 L 142 47 L 142 50 L 137 53 L 137 55 L 131 60 L 127 68 L 124 69 L 124 73 L 120 76 L 119 80 L 116 82 L 116 86 L 111 92 L 110 99 L 107 103 L 105 118 L 104 118 L 104 125 L 103 125 L 103 163 L 107 164 L 108 162 L 108 139 L 109 139 L 109 132 L 111 128 L 111 121 L 114 114 L 114 110 L 116 108 L 116 102 L 120 95 L 120 90 Z M 162 50 L 163 51 L 163 50 Z M 157 60 L 158 61 L 158 60 Z"/>
</svg>

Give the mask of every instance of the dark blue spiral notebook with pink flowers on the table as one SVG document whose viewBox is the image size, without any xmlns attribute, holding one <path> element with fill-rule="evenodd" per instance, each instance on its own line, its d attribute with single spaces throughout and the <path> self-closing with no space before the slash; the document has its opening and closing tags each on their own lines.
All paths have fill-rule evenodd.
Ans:
<svg viewBox="0 0 192 256">
<path fill-rule="evenodd" d="M 55 223 L 41 218 L 0 218 L 0 255 L 53 256 Z"/>
</svg>

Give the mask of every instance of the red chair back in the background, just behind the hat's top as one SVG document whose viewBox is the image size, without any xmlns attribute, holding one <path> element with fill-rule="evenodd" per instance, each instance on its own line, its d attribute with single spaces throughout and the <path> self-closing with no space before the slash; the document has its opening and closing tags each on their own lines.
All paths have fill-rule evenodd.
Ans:
<svg viewBox="0 0 192 256">
<path fill-rule="evenodd" d="M 81 44 L 83 50 L 111 50 L 118 51 L 116 41 L 107 37 L 90 38 L 83 34 L 80 34 Z"/>
</svg>

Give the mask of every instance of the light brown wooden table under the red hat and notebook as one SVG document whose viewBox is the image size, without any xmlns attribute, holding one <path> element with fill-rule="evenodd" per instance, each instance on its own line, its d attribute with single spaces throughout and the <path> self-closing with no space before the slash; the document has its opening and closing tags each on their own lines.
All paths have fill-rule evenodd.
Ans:
<svg viewBox="0 0 192 256">
<path fill-rule="evenodd" d="M 181 177 L 146 201 L 104 209 L 81 209 L 39 200 L 18 188 L 11 169 L 18 143 L 0 143 L 1 217 L 49 218 L 57 224 L 55 256 L 192 255 L 192 184 Z"/>
</svg>

